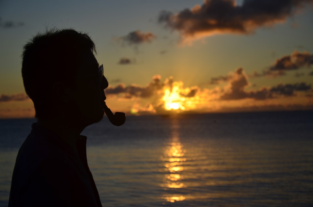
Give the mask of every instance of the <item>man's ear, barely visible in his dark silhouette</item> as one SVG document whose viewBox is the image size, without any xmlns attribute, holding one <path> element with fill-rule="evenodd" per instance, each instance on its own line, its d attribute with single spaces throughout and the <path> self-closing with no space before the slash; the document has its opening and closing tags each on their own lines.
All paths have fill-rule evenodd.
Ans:
<svg viewBox="0 0 313 207">
<path fill-rule="evenodd" d="M 73 91 L 64 83 L 56 82 L 52 86 L 52 95 L 55 100 L 68 103 L 72 98 Z"/>
</svg>

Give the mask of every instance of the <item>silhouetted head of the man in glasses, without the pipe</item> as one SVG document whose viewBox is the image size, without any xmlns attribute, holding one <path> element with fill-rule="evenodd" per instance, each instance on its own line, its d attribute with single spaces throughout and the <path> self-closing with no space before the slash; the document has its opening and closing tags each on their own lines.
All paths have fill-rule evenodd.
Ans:
<svg viewBox="0 0 313 207">
<path fill-rule="evenodd" d="M 102 119 L 108 83 L 99 82 L 94 52 L 90 37 L 73 29 L 38 33 L 24 46 L 23 83 L 38 119 L 68 117 L 83 126 Z"/>
</svg>

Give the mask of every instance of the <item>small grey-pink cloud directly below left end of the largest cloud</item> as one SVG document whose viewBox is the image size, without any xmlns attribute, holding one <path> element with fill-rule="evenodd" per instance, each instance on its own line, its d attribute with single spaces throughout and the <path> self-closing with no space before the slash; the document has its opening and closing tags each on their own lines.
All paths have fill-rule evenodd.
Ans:
<svg viewBox="0 0 313 207">
<path fill-rule="evenodd" d="M 119 38 L 123 43 L 129 45 L 138 45 L 141 43 L 149 43 L 156 38 L 151 32 L 142 33 L 140 30 L 128 33 L 126 36 Z"/>
</svg>

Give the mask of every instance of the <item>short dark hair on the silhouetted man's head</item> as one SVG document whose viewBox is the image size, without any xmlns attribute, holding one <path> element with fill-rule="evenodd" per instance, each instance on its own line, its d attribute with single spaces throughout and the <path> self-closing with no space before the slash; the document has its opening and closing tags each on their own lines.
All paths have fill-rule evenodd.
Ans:
<svg viewBox="0 0 313 207">
<path fill-rule="evenodd" d="M 86 33 L 74 29 L 47 29 L 33 36 L 22 54 L 24 88 L 33 100 L 35 117 L 47 116 L 49 93 L 55 82 L 77 73 L 80 56 L 95 51 L 95 43 Z"/>
</svg>

